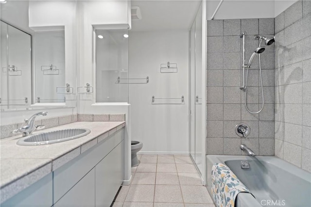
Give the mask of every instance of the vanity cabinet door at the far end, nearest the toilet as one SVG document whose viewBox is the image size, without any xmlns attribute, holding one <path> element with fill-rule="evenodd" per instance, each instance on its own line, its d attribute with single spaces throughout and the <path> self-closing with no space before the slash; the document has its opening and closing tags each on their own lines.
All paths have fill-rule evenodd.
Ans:
<svg viewBox="0 0 311 207">
<path fill-rule="evenodd" d="M 95 167 L 96 207 L 109 207 L 117 194 L 124 175 L 124 141 L 119 143 Z"/>
</svg>

